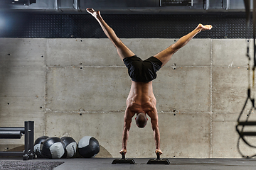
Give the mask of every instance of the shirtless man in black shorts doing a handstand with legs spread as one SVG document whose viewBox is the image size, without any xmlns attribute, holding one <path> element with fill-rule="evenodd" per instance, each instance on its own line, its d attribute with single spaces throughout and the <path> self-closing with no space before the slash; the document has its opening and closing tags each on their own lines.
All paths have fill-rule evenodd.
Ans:
<svg viewBox="0 0 256 170">
<path fill-rule="evenodd" d="M 176 43 L 171 45 L 154 55 L 149 59 L 142 61 L 139 57 L 129 50 L 124 43 L 117 37 L 114 30 L 105 23 L 100 16 L 100 11 L 94 11 L 92 8 L 86 9 L 88 13 L 95 17 L 100 23 L 102 30 L 107 37 L 113 42 L 117 48 L 117 53 L 121 60 L 128 68 L 129 76 L 132 78 L 132 86 L 127 98 L 127 108 L 124 113 L 124 131 L 122 134 L 122 150 L 120 154 L 126 154 L 127 152 L 127 140 L 129 135 L 129 129 L 132 123 L 132 117 L 136 114 L 136 124 L 139 128 L 144 128 L 147 122 L 146 115 L 151 118 L 151 127 L 154 131 L 154 140 L 156 144 L 156 154 L 162 154 L 160 149 L 160 133 L 158 124 L 158 114 L 156 111 L 156 98 L 153 94 L 152 80 L 156 79 L 156 72 L 163 67 L 174 55 L 178 49 L 186 45 L 195 35 L 201 32 L 201 30 L 210 30 L 212 26 L 203 26 L 199 24 L 195 30 L 188 35 L 180 38 Z"/>
</svg>

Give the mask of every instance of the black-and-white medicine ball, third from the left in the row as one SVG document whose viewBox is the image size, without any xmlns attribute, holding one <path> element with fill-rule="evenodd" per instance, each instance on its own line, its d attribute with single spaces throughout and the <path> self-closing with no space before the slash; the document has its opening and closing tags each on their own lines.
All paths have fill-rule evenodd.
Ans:
<svg viewBox="0 0 256 170">
<path fill-rule="evenodd" d="M 75 140 L 72 137 L 61 137 L 60 140 L 63 142 L 65 146 L 65 152 L 67 153 L 65 158 L 74 157 L 77 151 L 77 143 Z"/>
</svg>

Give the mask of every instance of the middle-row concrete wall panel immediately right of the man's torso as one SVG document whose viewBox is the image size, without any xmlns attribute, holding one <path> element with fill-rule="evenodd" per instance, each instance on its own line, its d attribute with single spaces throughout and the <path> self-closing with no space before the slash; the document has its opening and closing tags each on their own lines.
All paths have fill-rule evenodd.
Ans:
<svg viewBox="0 0 256 170">
<path fill-rule="evenodd" d="M 160 112 L 210 112 L 210 68 L 164 67 L 153 86 Z"/>
</svg>

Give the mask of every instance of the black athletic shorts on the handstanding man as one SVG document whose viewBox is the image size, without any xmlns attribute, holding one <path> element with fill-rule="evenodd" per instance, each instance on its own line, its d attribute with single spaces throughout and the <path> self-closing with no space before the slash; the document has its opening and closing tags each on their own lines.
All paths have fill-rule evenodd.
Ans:
<svg viewBox="0 0 256 170">
<path fill-rule="evenodd" d="M 124 64 L 132 81 L 149 82 L 156 79 L 156 72 L 161 69 L 162 62 L 156 57 L 149 57 L 143 61 L 134 55 L 124 58 Z"/>
</svg>

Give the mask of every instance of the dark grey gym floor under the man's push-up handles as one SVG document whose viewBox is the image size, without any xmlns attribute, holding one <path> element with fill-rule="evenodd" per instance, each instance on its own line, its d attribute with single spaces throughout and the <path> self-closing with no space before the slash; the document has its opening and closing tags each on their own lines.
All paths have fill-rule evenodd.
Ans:
<svg viewBox="0 0 256 170">
<path fill-rule="evenodd" d="M 60 166 L 55 167 L 53 170 L 70 170 L 70 169 L 182 169 L 182 170 L 201 170 L 201 169 L 214 169 L 214 170 L 255 170 L 255 159 L 183 159 L 171 158 L 171 164 L 146 164 L 149 159 L 134 159 L 136 164 L 112 164 L 112 158 L 91 158 L 91 159 L 33 159 L 28 162 L 64 162 Z M 22 159 L 0 159 L 1 161 L 21 162 Z"/>
</svg>

